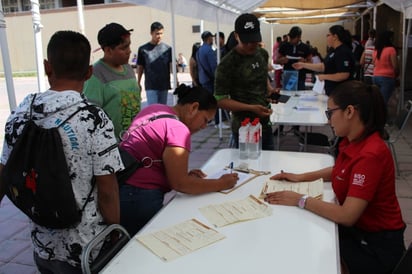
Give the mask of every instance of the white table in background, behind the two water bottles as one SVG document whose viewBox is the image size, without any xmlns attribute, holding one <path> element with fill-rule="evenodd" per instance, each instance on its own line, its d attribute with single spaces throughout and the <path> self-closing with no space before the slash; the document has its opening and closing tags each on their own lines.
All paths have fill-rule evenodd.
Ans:
<svg viewBox="0 0 412 274">
<path fill-rule="evenodd" d="M 327 109 L 328 97 L 324 94 L 315 95 L 316 100 L 305 100 L 305 96 L 311 96 L 313 91 L 281 91 L 281 94 L 291 96 L 289 100 L 283 104 L 272 104 L 272 115 L 270 121 L 273 126 L 292 125 L 305 127 L 305 149 L 306 149 L 306 134 L 307 128 L 310 126 L 325 126 L 328 124 L 328 119 L 325 115 Z M 307 97 L 306 97 L 307 98 Z M 297 109 L 298 106 L 307 106 L 313 109 Z M 277 149 L 280 147 L 280 138 L 277 135 Z"/>
</svg>

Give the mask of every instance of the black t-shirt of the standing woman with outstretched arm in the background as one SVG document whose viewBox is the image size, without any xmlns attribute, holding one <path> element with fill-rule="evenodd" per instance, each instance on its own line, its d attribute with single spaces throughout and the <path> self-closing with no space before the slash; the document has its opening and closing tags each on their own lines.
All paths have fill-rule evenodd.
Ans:
<svg viewBox="0 0 412 274">
<path fill-rule="evenodd" d="M 353 56 L 352 49 L 342 44 L 336 49 L 331 50 L 325 58 L 324 65 L 325 74 L 349 72 L 349 78 L 346 80 L 353 79 L 355 58 Z M 329 95 L 333 91 L 333 89 L 341 82 L 325 80 L 326 95 Z"/>
</svg>

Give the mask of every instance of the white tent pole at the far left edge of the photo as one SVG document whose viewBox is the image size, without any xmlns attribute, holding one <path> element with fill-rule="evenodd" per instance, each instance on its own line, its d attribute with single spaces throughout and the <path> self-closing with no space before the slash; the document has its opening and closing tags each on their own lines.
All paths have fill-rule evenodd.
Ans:
<svg viewBox="0 0 412 274">
<path fill-rule="evenodd" d="M 4 77 L 6 79 L 7 95 L 9 98 L 10 110 L 16 108 L 16 95 L 14 92 L 13 73 L 11 71 L 9 48 L 6 35 L 6 20 L 4 19 L 3 6 L 0 1 L 0 49 L 3 59 Z"/>
</svg>

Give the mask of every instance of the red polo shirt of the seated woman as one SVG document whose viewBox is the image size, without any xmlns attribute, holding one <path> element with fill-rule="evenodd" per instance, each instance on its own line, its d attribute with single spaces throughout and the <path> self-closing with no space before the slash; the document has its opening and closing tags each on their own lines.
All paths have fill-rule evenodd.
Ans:
<svg viewBox="0 0 412 274">
<path fill-rule="evenodd" d="M 342 140 L 332 171 L 332 187 L 341 205 L 348 196 L 368 201 L 356 227 L 377 232 L 405 226 L 395 193 L 392 155 L 378 133 L 355 143 Z"/>
</svg>

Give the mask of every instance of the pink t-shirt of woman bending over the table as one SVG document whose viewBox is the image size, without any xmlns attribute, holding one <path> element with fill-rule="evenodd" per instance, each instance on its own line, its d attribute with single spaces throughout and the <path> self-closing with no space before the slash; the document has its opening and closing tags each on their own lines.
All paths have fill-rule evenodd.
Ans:
<svg viewBox="0 0 412 274">
<path fill-rule="evenodd" d="M 190 151 L 190 131 L 184 123 L 173 118 L 148 122 L 153 116 L 161 114 L 176 115 L 173 108 L 167 105 L 154 104 L 144 108 L 134 118 L 129 127 L 129 137 L 120 146 L 138 160 L 144 157 L 162 160 L 166 147 L 183 147 Z M 140 126 L 142 124 L 144 125 Z M 164 192 L 171 190 L 162 162 L 154 162 L 149 168 L 139 168 L 127 184 L 145 189 L 161 189 Z"/>
</svg>

